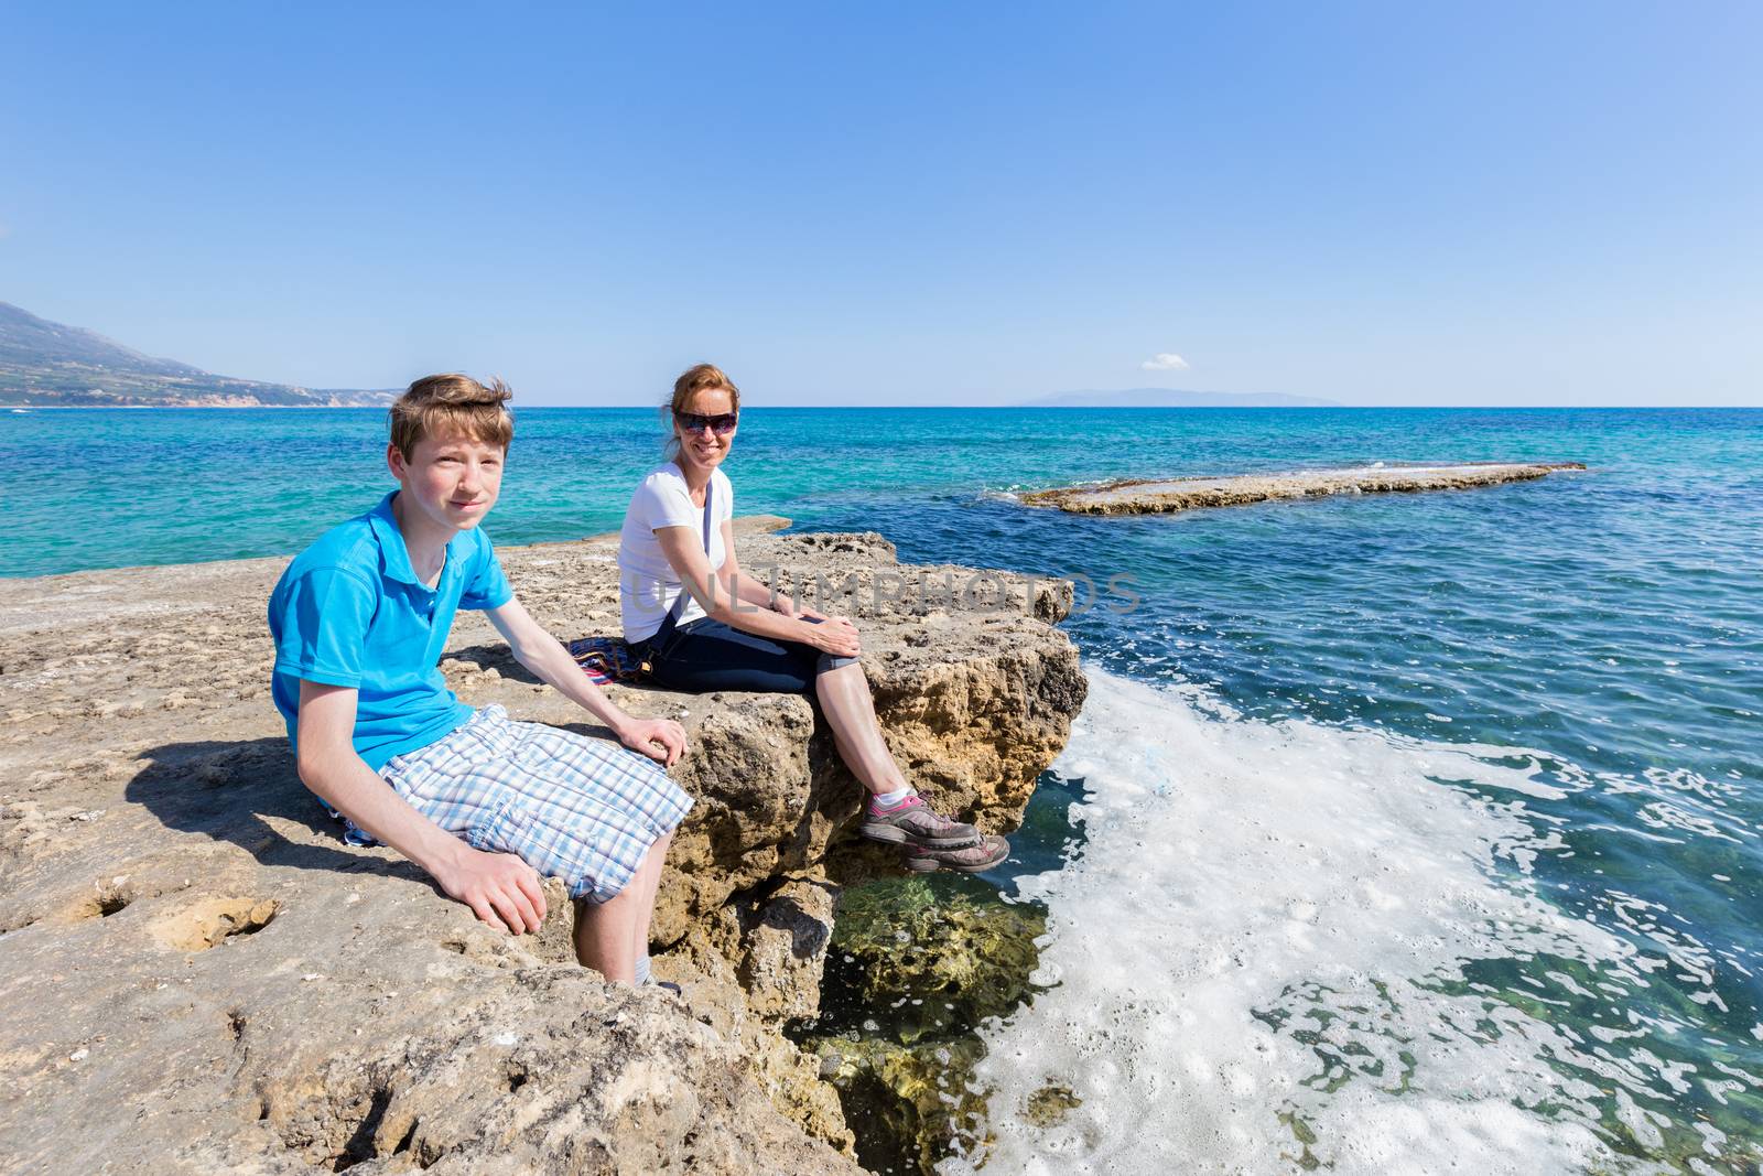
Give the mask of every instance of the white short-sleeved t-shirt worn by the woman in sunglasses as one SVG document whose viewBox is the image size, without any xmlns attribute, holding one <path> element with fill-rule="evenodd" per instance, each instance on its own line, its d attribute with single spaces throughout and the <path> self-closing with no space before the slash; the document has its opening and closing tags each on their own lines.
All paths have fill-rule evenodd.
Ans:
<svg viewBox="0 0 1763 1176">
<path fill-rule="evenodd" d="M 716 571 L 728 559 L 723 550 L 723 524 L 735 517 L 735 488 L 719 469 L 710 471 L 710 571 Z M 691 541 L 700 548 L 703 545 L 703 508 L 693 504 L 686 474 L 673 462 L 651 471 L 624 511 L 624 529 L 619 532 L 619 614 L 628 642 L 654 636 L 681 592 L 679 575 L 661 552 L 656 527 L 686 527 Z M 688 599 L 677 624 L 702 615 L 698 601 Z"/>
</svg>

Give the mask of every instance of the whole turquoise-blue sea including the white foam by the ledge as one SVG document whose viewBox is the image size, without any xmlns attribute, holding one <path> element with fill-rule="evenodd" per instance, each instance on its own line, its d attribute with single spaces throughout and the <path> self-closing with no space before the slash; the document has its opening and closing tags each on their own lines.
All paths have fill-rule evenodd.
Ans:
<svg viewBox="0 0 1763 1176">
<path fill-rule="evenodd" d="M 386 492 L 383 437 L 0 413 L 0 573 L 287 555 Z M 661 437 L 520 411 L 487 531 L 615 529 Z M 1017 499 L 1465 460 L 1587 469 Z M 755 406 L 725 469 L 739 513 L 1079 589 L 1090 698 L 987 883 L 1045 913 L 1033 996 L 971 1026 L 938 1171 L 1759 1171 L 1763 411 Z"/>
</svg>

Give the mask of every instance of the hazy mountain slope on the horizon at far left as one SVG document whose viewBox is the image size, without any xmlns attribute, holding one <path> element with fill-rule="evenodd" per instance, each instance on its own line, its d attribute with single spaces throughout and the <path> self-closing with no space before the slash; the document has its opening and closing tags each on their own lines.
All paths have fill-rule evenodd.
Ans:
<svg viewBox="0 0 1763 1176">
<path fill-rule="evenodd" d="M 130 351 L 79 326 L 0 301 L 0 406 L 41 407 L 349 407 L 390 404 L 397 391 L 294 388 L 213 376 Z"/>
</svg>

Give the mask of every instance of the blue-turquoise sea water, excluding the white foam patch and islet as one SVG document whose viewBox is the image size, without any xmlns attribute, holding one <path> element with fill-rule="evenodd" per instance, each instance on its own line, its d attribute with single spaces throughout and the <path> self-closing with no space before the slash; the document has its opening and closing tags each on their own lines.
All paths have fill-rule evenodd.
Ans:
<svg viewBox="0 0 1763 1176">
<path fill-rule="evenodd" d="M 365 411 L 0 414 L 0 569 L 291 554 L 384 492 L 381 451 Z M 658 458 L 652 413 L 524 411 L 487 531 L 612 531 Z M 1518 458 L 1590 469 L 1146 518 L 1010 497 Z M 726 469 L 742 513 L 880 531 L 903 561 L 1095 585 L 1067 628 L 1118 677 L 1199 688 L 1245 721 L 1509 749 L 1560 793 L 1529 800 L 1558 834 L 1537 890 L 1659 966 L 1620 993 L 1573 984 L 1590 996 L 1521 959 L 1477 982 L 1534 993 L 1527 1016 L 1580 1030 L 1640 1012 L 1647 1035 L 1606 1053 L 1687 1077 L 1631 1091 L 1663 1141 L 1604 1116 L 1617 1155 L 1689 1171 L 1701 1123 L 1719 1141 L 1698 1164 L 1763 1158 L 1763 411 L 749 409 Z"/>
</svg>

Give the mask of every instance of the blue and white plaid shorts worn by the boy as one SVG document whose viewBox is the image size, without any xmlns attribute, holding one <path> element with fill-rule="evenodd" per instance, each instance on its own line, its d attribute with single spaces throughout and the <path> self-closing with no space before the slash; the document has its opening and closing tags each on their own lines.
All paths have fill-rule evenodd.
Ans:
<svg viewBox="0 0 1763 1176">
<path fill-rule="evenodd" d="M 654 760 L 483 707 L 379 776 L 418 813 L 467 845 L 515 853 L 569 896 L 605 903 L 691 808 Z M 349 823 L 349 839 L 367 834 Z"/>
</svg>

